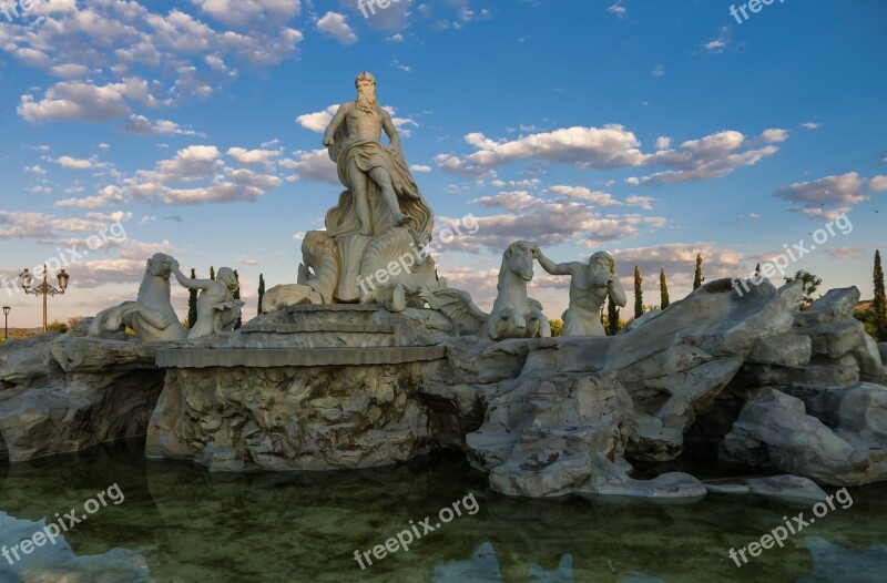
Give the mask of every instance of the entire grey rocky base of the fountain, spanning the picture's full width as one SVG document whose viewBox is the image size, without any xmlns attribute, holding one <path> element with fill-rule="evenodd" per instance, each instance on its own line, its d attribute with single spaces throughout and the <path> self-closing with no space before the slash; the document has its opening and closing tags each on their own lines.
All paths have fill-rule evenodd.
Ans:
<svg viewBox="0 0 887 583">
<path fill-rule="evenodd" d="M 614 337 L 491 342 L 432 309 L 375 305 L 292 306 L 170 345 L 49 336 L 0 349 L 0 433 L 16 461 L 147 426 L 149 456 L 220 471 L 453 448 L 522 497 L 697 499 L 712 485 L 685 473 L 633 477 L 687 443 L 819 483 L 887 480 L 884 362 L 852 319 L 858 292 L 803 311 L 798 293 L 716 280 Z M 785 480 L 728 489 L 807 489 Z"/>
</svg>

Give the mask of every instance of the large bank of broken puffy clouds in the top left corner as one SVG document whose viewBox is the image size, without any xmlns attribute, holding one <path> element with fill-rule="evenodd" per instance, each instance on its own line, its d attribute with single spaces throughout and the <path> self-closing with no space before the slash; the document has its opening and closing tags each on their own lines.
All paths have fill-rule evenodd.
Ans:
<svg viewBox="0 0 887 583">
<path fill-rule="evenodd" d="M 295 55 L 303 40 L 286 25 L 299 11 L 297 0 L 192 3 L 226 25 L 215 29 L 183 12 L 187 7 L 155 13 L 135 0 L 34 2 L 29 13 L 40 18 L 2 23 L 0 51 L 68 81 L 51 85 L 42 98 L 22 95 L 19 114 L 30 123 L 103 121 L 129 115 L 135 103 L 174 105 L 230 82 L 236 71 L 226 62 L 274 65 Z M 144 81 L 133 75 L 136 70 L 156 72 L 163 81 Z M 89 79 L 109 81 L 101 85 Z"/>
</svg>

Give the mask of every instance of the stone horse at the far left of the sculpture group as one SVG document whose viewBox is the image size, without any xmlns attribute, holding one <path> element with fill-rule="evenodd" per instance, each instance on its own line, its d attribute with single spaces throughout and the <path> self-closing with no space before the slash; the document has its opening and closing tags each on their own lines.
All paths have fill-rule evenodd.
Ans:
<svg viewBox="0 0 887 583">
<path fill-rule="evenodd" d="M 179 321 L 170 301 L 173 260 L 163 253 L 147 259 L 136 300 L 100 311 L 90 324 L 89 335 L 100 336 L 103 331 L 119 331 L 129 326 L 135 330 L 135 336 L 145 341 L 184 340 L 187 330 Z"/>
</svg>

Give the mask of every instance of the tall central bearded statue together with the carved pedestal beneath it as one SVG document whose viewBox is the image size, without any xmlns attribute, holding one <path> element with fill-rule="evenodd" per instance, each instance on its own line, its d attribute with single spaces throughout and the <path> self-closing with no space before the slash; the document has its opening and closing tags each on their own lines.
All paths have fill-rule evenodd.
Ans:
<svg viewBox="0 0 887 583">
<path fill-rule="evenodd" d="M 430 241 L 435 213 L 412 180 L 390 113 L 379 106 L 376 79 L 360 73 L 355 86 L 357 99 L 339 106 L 324 132 L 346 190 L 327 212 L 326 229 L 305 235 L 298 284 L 282 297 L 418 307 L 418 292 L 437 283 L 434 262 L 397 264 Z"/>
</svg>

